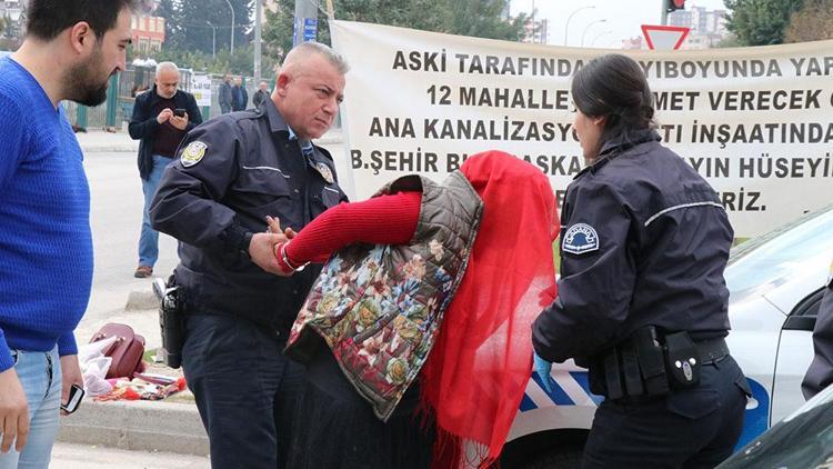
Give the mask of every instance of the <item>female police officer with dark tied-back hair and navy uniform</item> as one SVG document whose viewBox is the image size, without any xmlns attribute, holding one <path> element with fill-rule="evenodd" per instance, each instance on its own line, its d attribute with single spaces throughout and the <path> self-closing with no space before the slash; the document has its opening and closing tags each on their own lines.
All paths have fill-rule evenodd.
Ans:
<svg viewBox="0 0 833 469">
<path fill-rule="evenodd" d="M 723 339 L 732 227 L 709 183 L 659 143 L 636 62 L 600 57 L 572 94 L 588 168 L 568 188 L 559 293 L 535 320 L 535 351 L 588 366 L 606 397 L 582 467 L 716 466 L 749 395 Z"/>
</svg>

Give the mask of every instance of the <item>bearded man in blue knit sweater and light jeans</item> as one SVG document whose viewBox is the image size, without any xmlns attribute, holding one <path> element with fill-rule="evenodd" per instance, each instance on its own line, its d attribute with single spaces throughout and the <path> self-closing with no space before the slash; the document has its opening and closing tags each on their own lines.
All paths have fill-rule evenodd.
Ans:
<svg viewBox="0 0 833 469">
<path fill-rule="evenodd" d="M 92 286 L 90 188 L 61 101 L 107 100 L 133 7 L 30 0 L 22 46 L 0 59 L 3 469 L 49 467 L 61 402 L 83 386 L 73 331 Z"/>
</svg>

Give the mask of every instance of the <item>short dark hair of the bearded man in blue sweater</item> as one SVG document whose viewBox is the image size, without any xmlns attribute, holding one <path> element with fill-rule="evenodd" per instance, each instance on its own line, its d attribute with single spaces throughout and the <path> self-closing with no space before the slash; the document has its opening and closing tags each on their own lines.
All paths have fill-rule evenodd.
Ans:
<svg viewBox="0 0 833 469">
<path fill-rule="evenodd" d="M 136 10 L 136 0 L 31 0 L 27 12 L 27 36 L 51 41 L 67 28 L 86 21 L 101 39 L 116 28 L 123 8 Z"/>
</svg>

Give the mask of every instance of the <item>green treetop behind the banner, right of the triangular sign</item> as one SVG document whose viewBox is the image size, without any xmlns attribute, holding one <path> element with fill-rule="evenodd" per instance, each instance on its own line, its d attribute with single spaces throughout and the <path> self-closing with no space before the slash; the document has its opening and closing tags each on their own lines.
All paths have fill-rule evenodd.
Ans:
<svg viewBox="0 0 833 469">
<path fill-rule="evenodd" d="M 731 13 L 726 28 L 741 46 L 769 46 L 784 42 L 790 18 L 805 0 L 724 0 Z"/>
</svg>

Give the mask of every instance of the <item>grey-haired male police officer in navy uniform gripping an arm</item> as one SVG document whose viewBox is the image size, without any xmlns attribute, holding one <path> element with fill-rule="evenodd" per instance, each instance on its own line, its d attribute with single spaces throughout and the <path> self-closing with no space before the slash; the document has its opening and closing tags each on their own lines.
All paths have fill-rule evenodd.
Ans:
<svg viewBox="0 0 833 469">
<path fill-rule="evenodd" d="M 151 207 L 181 241 L 182 363 L 214 468 L 284 463 L 302 368 L 281 351 L 320 268 L 280 278 L 267 216 L 300 230 L 347 200 L 330 154 L 310 139 L 332 124 L 348 66 L 323 44 L 287 56 L 272 99 L 191 131 Z"/>
</svg>

